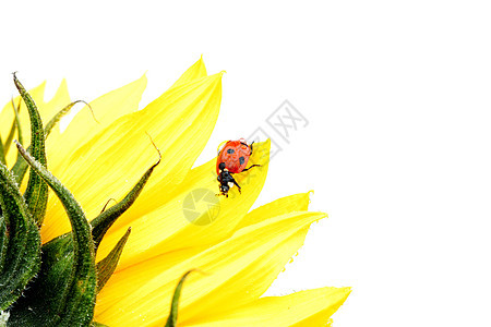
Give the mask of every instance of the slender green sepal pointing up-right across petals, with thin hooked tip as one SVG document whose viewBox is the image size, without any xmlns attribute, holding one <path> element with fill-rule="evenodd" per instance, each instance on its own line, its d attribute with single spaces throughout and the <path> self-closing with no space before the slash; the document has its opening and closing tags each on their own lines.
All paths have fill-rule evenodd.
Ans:
<svg viewBox="0 0 491 327">
<path fill-rule="evenodd" d="M 157 149 L 158 150 L 158 149 Z M 104 235 L 108 231 L 108 229 L 112 226 L 112 223 L 125 211 L 128 210 L 133 203 L 139 197 L 140 193 L 142 193 L 143 187 L 148 181 L 152 172 L 155 167 L 160 164 L 160 153 L 158 153 L 158 161 L 154 164 L 146 172 L 142 175 L 140 181 L 133 186 L 133 189 L 124 196 L 122 201 L 113 205 L 107 210 L 103 210 L 94 220 L 91 221 L 92 225 L 92 235 L 94 238 L 94 244 L 96 249 L 99 246 L 100 241 Z"/>
</svg>

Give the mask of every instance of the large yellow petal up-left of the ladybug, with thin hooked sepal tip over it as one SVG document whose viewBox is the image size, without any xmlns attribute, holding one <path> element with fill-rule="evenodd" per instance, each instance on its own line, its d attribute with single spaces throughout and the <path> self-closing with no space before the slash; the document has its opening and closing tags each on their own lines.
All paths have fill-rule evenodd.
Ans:
<svg viewBox="0 0 491 327">
<path fill-rule="evenodd" d="M 72 191 L 87 217 L 94 218 L 109 198 L 121 199 L 156 161 L 148 133 L 163 153 L 163 162 L 154 175 L 163 180 L 160 192 L 165 194 L 166 189 L 182 181 L 204 147 L 220 98 L 221 74 L 173 87 L 145 109 L 111 123 L 71 153 L 55 173 Z M 51 197 L 48 206 L 44 241 L 69 230 L 59 202 Z"/>
</svg>

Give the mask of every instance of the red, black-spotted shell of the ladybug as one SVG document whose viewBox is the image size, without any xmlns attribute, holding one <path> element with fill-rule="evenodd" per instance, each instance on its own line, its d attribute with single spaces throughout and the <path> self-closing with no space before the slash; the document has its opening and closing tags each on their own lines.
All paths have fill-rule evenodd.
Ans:
<svg viewBox="0 0 491 327">
<path fill-rule="evenodd" d="M 231 173 L 238 173 L 248 166 L 251 148 L 240 141 L 229 141 L 225 144 L 216 159 L 216 173 L 219 174 L 218 166 L 225 162 L 225 168 Z"/>
</svg>

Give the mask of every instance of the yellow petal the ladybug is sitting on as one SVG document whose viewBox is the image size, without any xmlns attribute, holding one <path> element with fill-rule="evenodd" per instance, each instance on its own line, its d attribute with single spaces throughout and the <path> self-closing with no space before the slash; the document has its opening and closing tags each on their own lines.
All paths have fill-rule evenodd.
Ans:
<svg viewBox="0 0 491 327">
<path fill-rule="evenodd" d="M 194 168 L 175 192 L 167 194 L 165 192 L 167 187 L 160 187 L 160 184 L 157 187 L 151 186 L 109 230 L 99 246 L 98 258 L 109 253 L 128 227 L 131 227 L 132 235 L 121 255 L 120 268 L 158 254 L 214 244 L 230 237 L 264 185 L 270 146 L 270 141 L 258 144 L 251 156 L 250 162 L 261 164 L 262 167 L 235 174 L 237 182 L 242 186 L 242 194 L 231 189 L 228 198 L 215 196 L 218 193 L 215 158 Z M 208 199 L 194 198 L 194 194 L 200 192 L 205 192 Z M 190 207 L 190 197 L 193 197 L 191 203 L 196 206 L 195 208 Z M 166 202 L 168 198 L 170 201 Z M 157 204 L 159 206 L 156 208 Z M 195 211 L 197 217 L 191 216 L 192 211 Z M 195 221 L 203 223 L 192 223 Z"/>
</svg>

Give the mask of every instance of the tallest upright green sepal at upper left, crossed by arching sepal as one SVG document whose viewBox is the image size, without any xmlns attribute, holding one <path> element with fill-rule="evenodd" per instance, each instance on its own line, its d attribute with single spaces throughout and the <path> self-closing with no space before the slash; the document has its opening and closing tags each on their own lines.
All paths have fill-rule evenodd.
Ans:
<svg viewBox="0 0 491 327">
<path fill-rule="evenodd" d="M 46 167 L 46 153 L 45 153 L 45 132 L 43 129 L 43 121 L 31 95 L 25 90 L 24 86 L 13 74 L 15 86 L 21 94 L 24 104 L 27 107 L 31 119 L 31 154 L 40 165 Z M 27 203 L 27 207 L 38 226 L 43 223 L 43 219 L 46 214 L 46 206 L 48 204 L 48 185 L 43 179 L 31 171 L 27 187 L 24 193 L 24 198 Z"/>
</svg>

